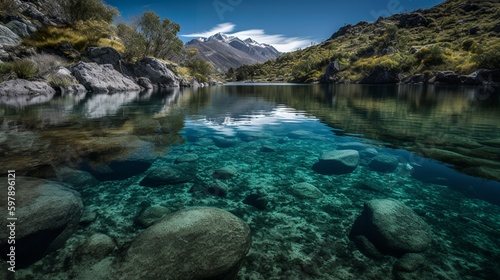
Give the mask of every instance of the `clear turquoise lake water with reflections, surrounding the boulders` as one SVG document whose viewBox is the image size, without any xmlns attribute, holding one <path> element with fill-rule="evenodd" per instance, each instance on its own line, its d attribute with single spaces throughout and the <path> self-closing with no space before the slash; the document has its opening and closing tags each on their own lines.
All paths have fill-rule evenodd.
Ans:
<svg viewBox="0 0 500 280">
<path fill-rule="evenodd" d="M 500 278 L 497 89 L 234 84 L 9 104 L 2 167 L 71 184 L 93 217 L 19 279 L 78 274 L 75 248 L 97 232 L 119 258 L 152 206 L 218 207 L 247 222 L 239 279 L 393 279 L 395 257 L 367 257 L 349 238 L 364 202 L 381 198 L 432 229 L 425 265 L 408 279 Z M 343 149 L 360 154 L 354 170 L 314 168 Z M 375 154 L 395 169 L 377 171 Z M 321 196 L 294 190 L 304 182 Z"/>
</svg>

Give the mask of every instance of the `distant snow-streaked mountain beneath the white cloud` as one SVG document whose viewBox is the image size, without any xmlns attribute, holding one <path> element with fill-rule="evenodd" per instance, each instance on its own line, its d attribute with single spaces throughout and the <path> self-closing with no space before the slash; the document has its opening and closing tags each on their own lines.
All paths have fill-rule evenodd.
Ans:
<svg viewBox="0 0 500 280">
<path fill-rule="evenodd" d="M 216 71 L 222 72 L 242 65 L 266 62 L 281 55 L 271 45 L 222 33 L 191 40 L 185 44 L 185 48 L 198 49 L 198 56 L 210 61 Z"/>
</svg>

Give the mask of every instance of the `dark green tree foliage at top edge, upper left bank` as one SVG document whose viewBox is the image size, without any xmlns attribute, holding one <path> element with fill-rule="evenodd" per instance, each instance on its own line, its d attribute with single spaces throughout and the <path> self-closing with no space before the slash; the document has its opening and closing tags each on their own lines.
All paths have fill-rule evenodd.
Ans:
<svg viewBox="0 0 500 280">
<path fill-rule="evenodd" d="M 101 0 L 60 0 L 68 21 L 103 20 L 111 23 L 119 15 L 115 7 L 106 5 Z"/>
</svg>

